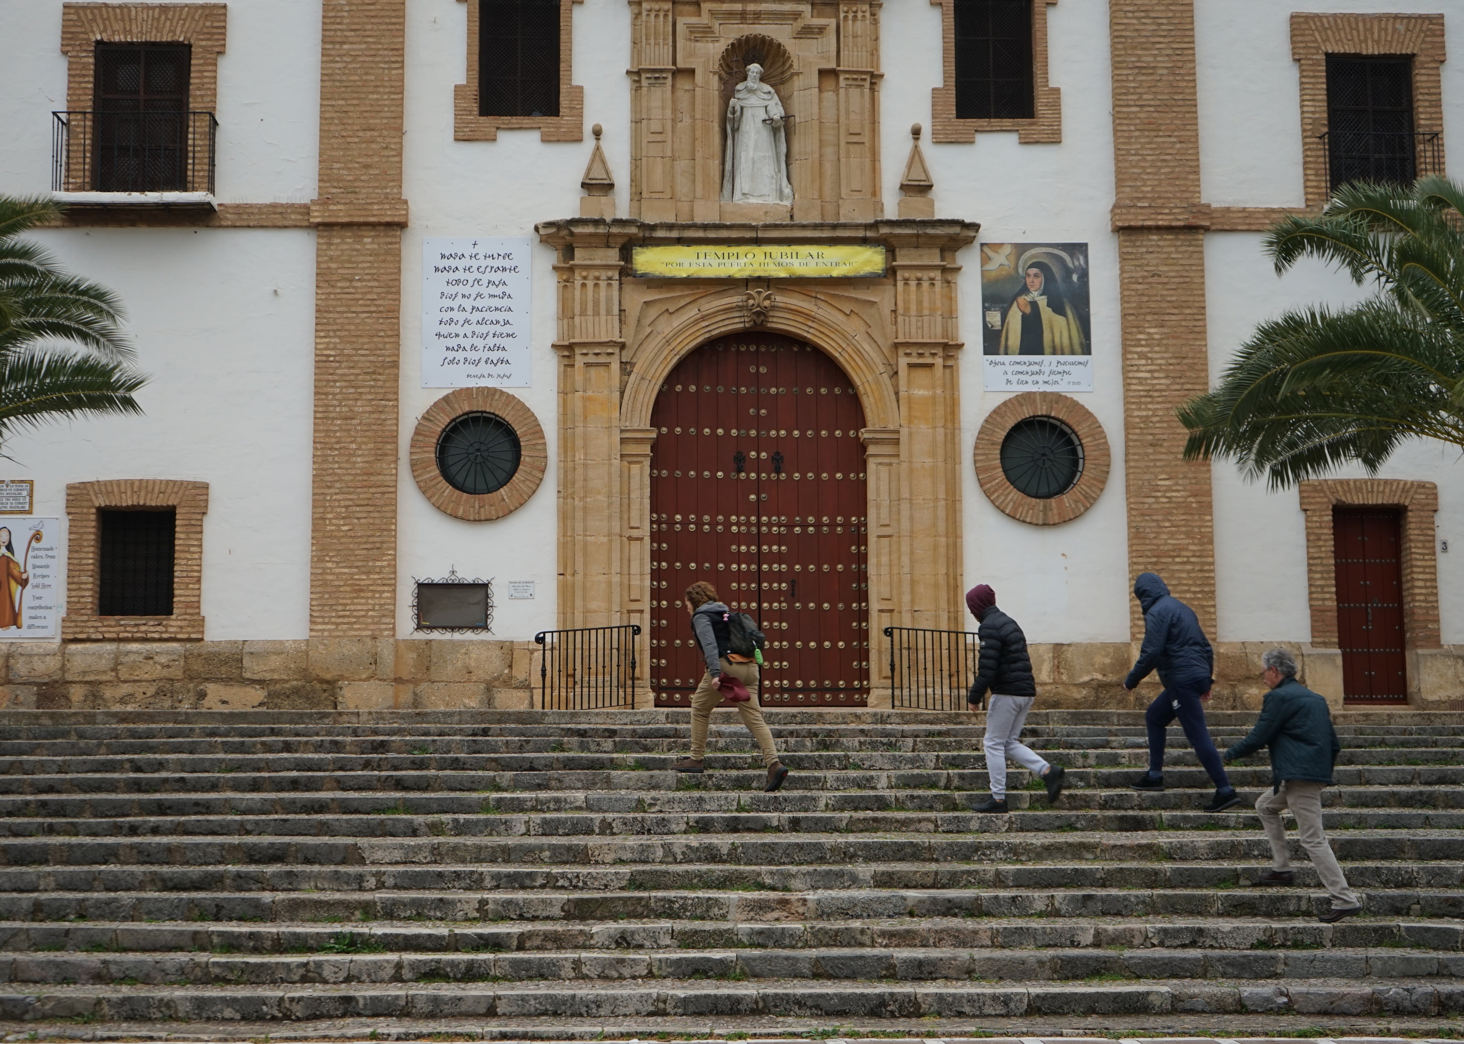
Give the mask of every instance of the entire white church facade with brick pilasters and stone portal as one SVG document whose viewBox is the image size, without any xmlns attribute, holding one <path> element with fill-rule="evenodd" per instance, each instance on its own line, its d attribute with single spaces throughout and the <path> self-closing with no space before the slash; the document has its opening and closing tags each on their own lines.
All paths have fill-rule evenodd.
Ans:
<svg viewBox="0 0 1464 1044">
<path fill-rule="evenodd" d="M 6 442 L 50 587 L 0 706 L 685 706 L 709 580 L 772 709 L 947 698 L 916 660 L 976 583 L 1047 706 L 1126 709 L 1145 571 L 1217 706 L 1259 706 L 1272 644 L 1338 704 L 1464 706 L 1457 451 L 1271 491 L 1174 416 L 1258 322 L 1369 293 L 1278 277 L 1272 223 L 1449 173 L 1446 4 L 0 19 L 0 192 L 67 204 L 34 239 L 149 376 L 145 416 Z"/>
</svg>

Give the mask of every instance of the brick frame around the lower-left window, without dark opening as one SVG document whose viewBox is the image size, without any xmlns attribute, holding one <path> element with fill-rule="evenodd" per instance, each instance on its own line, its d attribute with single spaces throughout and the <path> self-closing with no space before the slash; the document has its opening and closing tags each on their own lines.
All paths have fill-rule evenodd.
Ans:
<svg viewBox="0 0 1464 1044">
<path fill-rule="evenodd" d="M 105 508 L 173 508 L 173 615 L 98 616 L 97 512 Z M 66 486 L 69 526 L 66 616 L 61 637 L 98 641 L 165 641 L 203 638 L 203 515 L 208 483 L 170 479 L 114 479 Z"/>
</svg>

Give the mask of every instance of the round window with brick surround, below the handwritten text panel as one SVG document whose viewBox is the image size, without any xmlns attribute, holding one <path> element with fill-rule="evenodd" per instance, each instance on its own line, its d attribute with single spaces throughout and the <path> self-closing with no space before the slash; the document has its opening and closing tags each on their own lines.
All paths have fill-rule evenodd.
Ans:
<svg viewBox="0 0 1464 1044">
<path fill-rule="evenodd" d="M 499 388 L 458 388 L 433 403 L 411 435 L 411 477 L 439 510 L 488 521 L 520 508 L 549 463 L 543 428 Z"/>
</svg>

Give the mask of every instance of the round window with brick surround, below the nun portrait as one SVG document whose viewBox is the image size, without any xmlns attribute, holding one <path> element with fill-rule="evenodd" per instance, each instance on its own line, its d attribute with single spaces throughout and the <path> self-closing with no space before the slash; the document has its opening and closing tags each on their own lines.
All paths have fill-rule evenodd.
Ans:
<svg viewBox="0 0 1464 1044">
<path fill-rule="evenodd" d="M 1053 391 L 1013 395 L 987 414 L 974 457 L 987 498 L 1032 526 L 1057 526 L 1091 508 L 1113 460 L 1098 417 Z"/>
</svg>

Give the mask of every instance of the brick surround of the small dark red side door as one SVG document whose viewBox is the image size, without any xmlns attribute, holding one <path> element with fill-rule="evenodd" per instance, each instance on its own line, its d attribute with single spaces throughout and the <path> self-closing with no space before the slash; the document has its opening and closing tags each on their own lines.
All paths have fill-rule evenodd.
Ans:
<svg viewBox="0 0 1464 1044">
<path fill-rule="evenodd" d="M 1312 602 L 1312 644 L 1337 649 L 1337 559 L 1334 507 L 1403 510 L 1403 637 L 1407 649 L 1439 649 L 1439 565 L 1433 512 L 1439 488 L 1400 479 L 1319 479 L 1300 483 L 1306 512 L 1306 586 Z"/>
</svg>

